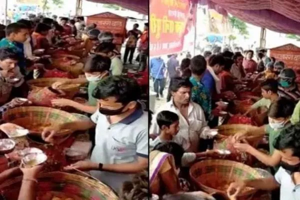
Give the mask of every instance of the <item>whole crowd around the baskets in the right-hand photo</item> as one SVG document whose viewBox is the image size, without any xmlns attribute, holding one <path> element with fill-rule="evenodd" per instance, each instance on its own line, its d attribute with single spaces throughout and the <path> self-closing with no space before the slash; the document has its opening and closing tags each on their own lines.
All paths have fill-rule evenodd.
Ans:
<svg viewBox="0 0 300 200">
<path fill-rule="evenodd" d="M 149 188 L 153 199 L 154 196 L 160 199 L 236 199 L 246 186 L 274 190 L 272 199 L 299 199 L 300 90 L 295 82 L 296 73 L 284 62 L 269 58 L 266 49 L 256 53 L 258 63 L 252 59 L 252 50 L 239 50 L 205 51 L 203 55 L 182 59 L 180 65 L 177 54 L 169 56 L 166 66 L 161 57 L 150 60 L 150 76 L 157 99 L 164 97 L 166 77 L 170 81 L 167 102 L 155 110 L 149 129 Z M 219 101 L 233 101 L 250 79 L 258 85 L 253 91 L 259 88 L 261 96 L 243 115 L 261 107 L 268 110 L 267 122 L 256 132 L 268 135 L 268 153 L 243 142 L 248 132 L 233 136 L 234 148 L 270 166 L 274 176 L 232 182 L 227 196 L 197 193 L 182 170 L 195 159 L 213 158 L 218 154 L 212 149 L 210 133 L 214 130 L 211 128 L 218 125 L 218 116 L 223 116 Z"/>
</svg>

